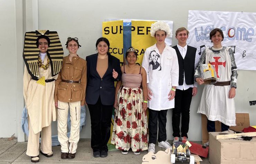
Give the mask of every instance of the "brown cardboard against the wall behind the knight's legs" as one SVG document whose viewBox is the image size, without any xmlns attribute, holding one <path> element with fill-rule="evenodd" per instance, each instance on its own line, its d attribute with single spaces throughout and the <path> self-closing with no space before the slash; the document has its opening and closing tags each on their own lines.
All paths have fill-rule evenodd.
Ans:
<svg viewBox="0 0 256 164">
<path fill-rule="evenodd" d="M 209 141 L 209 134 L 207 132 L 207 117 L 201 114 L 202 119 L 202 144 Z M 242 131 L 245 127 L 250 126 L 249 113 L 236 113 L 236 126 L 230 126 L 230 129 L 235 131 Z M 221 122 L 215 122 L 216 132 L 221 132 Z"/>
</svg>

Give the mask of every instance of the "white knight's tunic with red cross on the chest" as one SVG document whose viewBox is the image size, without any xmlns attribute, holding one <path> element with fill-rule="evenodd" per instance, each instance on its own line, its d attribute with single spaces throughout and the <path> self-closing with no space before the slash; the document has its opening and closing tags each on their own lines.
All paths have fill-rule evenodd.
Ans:
<svg viewBox="0 0 256 164">
<path fill-rule="evenodd" d="M 217 78 L 217 81 L 230 81 L 231 61 L 228 48 L 221 50 L 219 53 L 214 53 L 207 47 L 205 63 L 215 62 L 214 57 L 220 57 L 218 62 L 225 62 L 225 67 L 218 65 L 219 78 Z M 211 121 L 219 120 L 225 125 L 236 126 L 234 98 L 228 98 L 230 88 L 230 85 L 205 85 L 197 113 L 206 115 Z"/>
</svg>

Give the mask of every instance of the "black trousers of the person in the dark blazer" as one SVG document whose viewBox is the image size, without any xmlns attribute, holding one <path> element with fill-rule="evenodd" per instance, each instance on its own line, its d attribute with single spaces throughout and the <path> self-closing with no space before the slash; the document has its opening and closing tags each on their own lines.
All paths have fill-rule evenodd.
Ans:
<svg viewBox="0 0 256 164">
<path fill-rule="evenodd" d="M 101 96 L 96 104 L 87 104 L 91 116 L 91 147 L 93 152 L 108 151 L 113 105 L 103 105 Z"/>
</svg>

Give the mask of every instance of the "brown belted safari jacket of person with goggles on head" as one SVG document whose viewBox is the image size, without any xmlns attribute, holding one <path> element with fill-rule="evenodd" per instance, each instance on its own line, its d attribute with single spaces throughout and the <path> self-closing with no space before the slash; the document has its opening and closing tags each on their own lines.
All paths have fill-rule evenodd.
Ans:
<svg viewBox="0 0 256 164">
<path fill-rule="evenodd" d="M 63 57 L 63 65 L 59 76 L 55 81 L 54 100 L 55 102 L 77 102 L 85 104 L 86 90 L 86 61 L 82 58 L 73 57 L 72 62 L 69 55 Z M 80 81 L 80 83 L 65 83 L 62 80 Z"/>
</svg>

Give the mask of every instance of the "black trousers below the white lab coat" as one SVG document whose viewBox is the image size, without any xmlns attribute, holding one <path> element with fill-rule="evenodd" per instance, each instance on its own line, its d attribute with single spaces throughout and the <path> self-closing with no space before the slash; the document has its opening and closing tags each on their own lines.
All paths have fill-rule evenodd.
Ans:
<svg viewBox="0 0 256 164">
<path fill-rule="evenodd" d="M 152 110 L 149 109 L 149 144 L 166 141 L 166 114 L 167 110 Z"/>
</svg>

